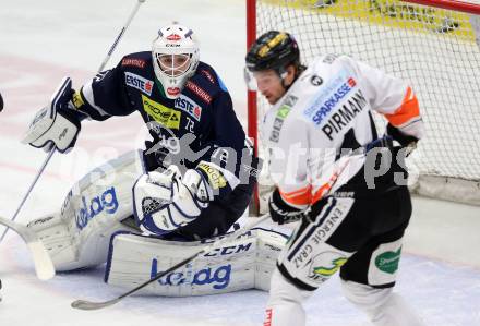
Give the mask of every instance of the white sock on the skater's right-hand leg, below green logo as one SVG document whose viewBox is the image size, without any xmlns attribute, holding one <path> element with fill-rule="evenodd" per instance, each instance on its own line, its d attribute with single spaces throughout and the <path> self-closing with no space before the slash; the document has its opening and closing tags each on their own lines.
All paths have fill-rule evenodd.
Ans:
<svg viewBox="0 0 480 326">
<path fill-rule="evenodd" d="M 375 326 L 424 326 L 411 306 L 393 288 L 375 289 L 341 280 L 345 297 L 367 313 Z"/>
</svg>

